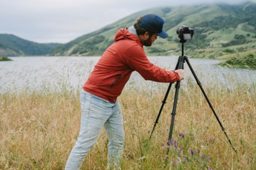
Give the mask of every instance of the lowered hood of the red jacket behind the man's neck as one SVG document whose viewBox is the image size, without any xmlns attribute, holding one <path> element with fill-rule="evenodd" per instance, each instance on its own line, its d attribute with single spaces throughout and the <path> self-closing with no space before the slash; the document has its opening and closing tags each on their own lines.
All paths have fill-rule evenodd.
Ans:
<svg viewBox="0 0 256 170">
<path fill-rule="evenodd" d="M 140 38 L 138 38 L 135 34 L 129 32 L 127 28 L 121 28 L 118 32 L 116 32 L 114 40 L 119 41 L 120 39 L 130 39 L 132 41 L 136 41 L 138 44 L 143 46 L 143 44 L 140 41 Z"/>
</svg>

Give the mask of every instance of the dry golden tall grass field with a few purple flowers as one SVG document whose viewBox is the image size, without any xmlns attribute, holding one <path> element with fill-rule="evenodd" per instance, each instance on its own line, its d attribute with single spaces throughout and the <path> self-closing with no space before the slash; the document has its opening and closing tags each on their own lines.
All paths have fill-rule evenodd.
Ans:
<svg viewBox="0 0 256 170">
<path fill-rule="evenodd" d="M 166 167 L 174 88 L 148 141 L 165 87 L 127 88 L 119 97 L 126 135 L 123 169 L 256 169 L 255 85 L 205 89 L 237 155 L 198 86 L 190 82 L 181 88 Z M 79 93 L 5 93 L 0 95 L 0 115 L 0 169 L 65 167 L 79 133 Z M 102 131 L 82 169 L 105 169 L 107 146 Z"/>
</svg>

